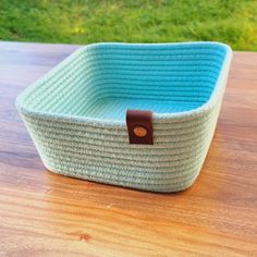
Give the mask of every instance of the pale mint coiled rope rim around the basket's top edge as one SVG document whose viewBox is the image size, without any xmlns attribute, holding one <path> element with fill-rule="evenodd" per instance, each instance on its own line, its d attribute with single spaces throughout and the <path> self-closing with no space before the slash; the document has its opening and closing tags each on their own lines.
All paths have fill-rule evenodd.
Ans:
<svg viewBox="0 0 257 257">
<path fill-rule="evenodd" d="M 89 44 L 86 46 L 82 46 L 74 52 L 72 52 L 68 58 L 62 60 L 60 63 L 58 63 L 56 66 L 53 66 L 49 72 L 47 72 L 45 75 L 42 75 L 40 78 L 35 81 L 30 86 L 25 88 L 15 99 L 15 106 L 21 114 L 24 115 L 30 115 L 37 119 L 44 119 L 44 120 L 52 120 L 52 121 L 61 121 L 61 122 L 73 122 L 73 123 L 88 123 L 93 126 L 109 126 L 109 127 L 125 127 L 125 119 L 124 120 L 105 120 L 105 119 L 96 119 L 91 117 L 82 117 L 76 114 L 65 114 L 65 113 L 50 113 L 50 112 L 44 112 L 40 110 L 34 110 L 25 105 L 23 105 L 23 98 L 29 94 L 30 90 L 33 90 L 34 87 L 37 86 L 38 83 L 47 81 L 48 77 L 50 77 L 57 70 L 60 70 L 62 66 L 64 66 L 66 63 L 69 63 L 72 59 L 79 56 L 83 51 L 88 50 L 90 48 L 99 47 L 99 46 L 115 46 L 115 47 L 157 47 L 157 49 L 161 49 L 164 47 L 174 47 L 174 46 L 220 46 L 225 50 L 225 56 L 223 59 L 222 66 L 220 69 L 219 76 L 217 78 L 215 88 L 209 97 L 209 99 L 201 106 L 199 106 L 196 109 L 182 111 L 182 112 L 175 112 L 175 113 L 152 113 L 154 123 L 155 122 L 171 122 L 171 121 L 186 121 L 192 118 L 197 118 L 205 115 L 211 109 L 215 107 L 216 102 L 218 101 L 220 94 L 222 94 L 222 89 L 225 87 L 225 83 L 221 83 L 223 79 L 227 79 L 227 76 L 224 77 L 224 72 L 229 70 L 230 63 L 232 60 L 232 49 L 229 45 L 218 41 L 187 41 L 187 42 L 95 42 Z M 225 73 L 227 74 L 227 73 Z"/>
</svg>

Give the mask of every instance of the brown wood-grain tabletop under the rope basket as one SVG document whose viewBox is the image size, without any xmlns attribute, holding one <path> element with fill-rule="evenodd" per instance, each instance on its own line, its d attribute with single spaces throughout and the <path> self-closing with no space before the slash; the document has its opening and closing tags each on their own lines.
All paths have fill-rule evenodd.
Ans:
<svg viewBox="0 0 257 257">
<path fill-rule="evenodd" d="M 257 256 L 257 53 L 234 52 L 196 183 L 154 194 L 42 166 L 14 99 L 76 48 L 0 42 L 0 256 Z"/>
</svg>

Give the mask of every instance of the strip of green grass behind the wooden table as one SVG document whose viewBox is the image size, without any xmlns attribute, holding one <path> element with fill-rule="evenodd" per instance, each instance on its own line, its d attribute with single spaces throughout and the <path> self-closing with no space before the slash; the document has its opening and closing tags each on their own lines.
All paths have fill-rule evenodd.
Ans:
<svg viewBox="0 0 257 257">
<path fill-rule="evenodd" d="M 217 40 L 257 50 L 257 0 L 0 0 L 0 39 Z"/>
</svg>

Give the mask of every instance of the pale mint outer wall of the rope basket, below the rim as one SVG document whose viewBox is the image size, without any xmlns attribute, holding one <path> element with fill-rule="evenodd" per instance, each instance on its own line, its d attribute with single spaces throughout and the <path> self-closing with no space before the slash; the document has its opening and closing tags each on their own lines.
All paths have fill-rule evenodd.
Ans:
<svg viewBox="0 0 257 257">
<path fill-rule="evenodd" d="M 128 145 L 117 130 L 23 117 L 45 166 L 52 172 L 146 191 L 175 192 L 199 174 L 219 113 L 191 121 L 156 122 L 155 145 Z"/>
</svg>

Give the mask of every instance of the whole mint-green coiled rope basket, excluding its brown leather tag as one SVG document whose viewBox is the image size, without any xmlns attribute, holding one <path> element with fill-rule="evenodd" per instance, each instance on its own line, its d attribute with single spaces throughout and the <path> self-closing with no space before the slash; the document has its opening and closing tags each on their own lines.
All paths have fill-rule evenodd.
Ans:
<svg viewBox="0 0 257 257">
<path fill-rule="evenodd" d="M 50 171 L 183 191 L 205 161 L 231 57 L 219 42 L 93 44 L 26 88 L 16 107 Z M 127 110 L 151 111 L 151 144 L 130 144 Z"/>
</svg>

